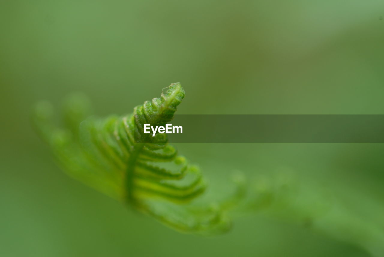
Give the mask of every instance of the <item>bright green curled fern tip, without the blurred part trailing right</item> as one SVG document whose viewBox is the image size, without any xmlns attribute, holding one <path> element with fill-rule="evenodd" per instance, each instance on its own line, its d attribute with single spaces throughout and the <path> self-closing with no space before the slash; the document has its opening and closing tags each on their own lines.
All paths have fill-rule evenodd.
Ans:
<svg viewBox="0 0 384 257">
<path fill-rule="evenodd" d="M 183 232 L 210 234 L 228 229 L 226 209 L 241 190 L 220 204 L 193 204 L 206 188 L 199 167 L 190 165 L 167 143 L 166 134 L 147 138 L 143 124 L 164 125 L 185 96 L 180 83 L 160 98 L 144 102 L 132 114 L 88 117 L 89 102 L 75 95 L 64 105 L 63 128 L 53 125 L 53 108 L 37 105 L 34 124 L 60 166 L 72 177 Z"/>
</svg>

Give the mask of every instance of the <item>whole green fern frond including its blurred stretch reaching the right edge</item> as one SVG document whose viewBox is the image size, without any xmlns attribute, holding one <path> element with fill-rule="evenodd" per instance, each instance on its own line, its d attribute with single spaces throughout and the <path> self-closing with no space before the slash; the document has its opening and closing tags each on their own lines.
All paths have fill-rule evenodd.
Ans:
<svg viewBox="0 0 384 257">
<path fill-rule="evenodd" d="M 204 199 L 206 182 L 199 167 L 178 155 L 166 134 L 143 133 L 143 124 L 172 120 L 184 96 L 179 83 L 171 84 L 161 98 L 135 107 L 132 114 L 99 119 L 88 117 L 86 97 L 74 95 L 65 101 L 63 127 L 54 125 L 48 102 L 36 106 L 33 123 L 70 176 L 179 231 L 219 233 L 230 227 L 229 212 L 233 216 L 268 210 L 271 216 L 299 221 L 373 256 L 384 256 L 381 204 L 371 204 L 378 218 L 366 218 L 342 202 L 335 204 L 333 194 L 306 183 L 302 188 L 285 175 L 276 181 L 260 177 L 247 194 L 240 175 L 229 198 Z"/>
</svg>

